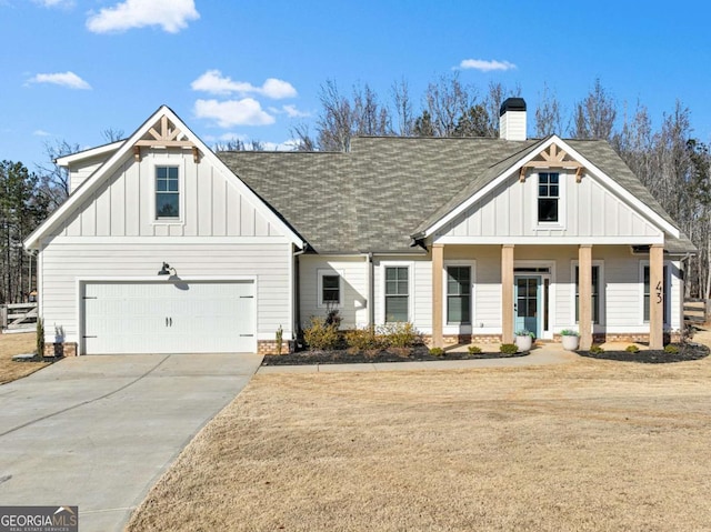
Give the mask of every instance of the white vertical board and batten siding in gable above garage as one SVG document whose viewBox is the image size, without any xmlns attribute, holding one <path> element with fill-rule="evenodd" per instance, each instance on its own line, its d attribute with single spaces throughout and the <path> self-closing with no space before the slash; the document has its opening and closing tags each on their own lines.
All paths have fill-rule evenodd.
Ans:
<svg viewBox="0 0 711 532">
<path fill-rule="evenodd" d="M 180 169 L 181 219 L 156 221 L 157 165 Z M 208 158 L 180 150 L 126 159 L 56 235 L 63 237 L 278 237 L 259 208 L 232 187 Z"/>
</svg>

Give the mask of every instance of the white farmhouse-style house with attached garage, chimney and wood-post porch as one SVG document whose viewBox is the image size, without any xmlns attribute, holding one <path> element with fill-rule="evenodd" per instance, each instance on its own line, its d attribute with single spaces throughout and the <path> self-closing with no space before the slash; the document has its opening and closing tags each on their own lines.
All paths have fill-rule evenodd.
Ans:
<svg viewBox="0 0 711 532">
<path fill-rule="evenodd" d="M 527 139 L 525 121 L 514 98 L 500 139 L 214 153 L 161 107 L 58 159 L 71 194 L 26 241 L 48 333 L 77 354 L 268 353 L 336 307 L 433 345 L 525 328 L 662 347 L 694 247 L 607 142 Z"/>
</svg>

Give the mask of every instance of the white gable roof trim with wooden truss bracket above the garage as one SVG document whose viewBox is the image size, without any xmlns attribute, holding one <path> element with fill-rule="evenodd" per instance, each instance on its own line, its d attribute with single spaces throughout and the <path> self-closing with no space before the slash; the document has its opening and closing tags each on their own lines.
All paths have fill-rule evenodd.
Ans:
<svg viewBox="0 0 711 532">
<path fill-rule="evenodd" d="M 249 200 L 253 201 L 254 205 L 261 207 L 262 214 L 272 223 L 276 228 L 278 228 L 284 235 L 287 235 L 296 245 L 299 248 L 304 247 L 303 239 L 290 227 L 277 212 L 272 210 L 272 208 L 264 203 L 249 187 L 247 187 L 243 182 L 241 182 L 237 177 L 228 169 L 224 163 L 218 159 L 212 150 L 208 148 L 199 138 L 196 135 L 188 126 L 184 124 L 180 118 L 167 106 L 161 106 L 151 117 L 141 124 L 140 128 L 136 130 L 136 132 L 126 139 L 121 145 L 114 150 L 116 143 L 107 144 L 104 147 L 99 147 L 94 150 L 87 150 L 83 152 L 83 157 L 93 157 L 99 153 L 100 150 L 104 150 L 106 153 L 111 153 L 109 159 L 97 169 L 81 185 L 70 194 L 70 197 L 64 201 L 59 209 L 57 209 L 52 215 L 50 215 L 39 228 L 37 228 L 23 242 L 27 249 L 38 249 L 40 242 L 43 238 L 51 234 L 52 230 L 54 230 L 59 224 L 61 224 L 66 219 L 68 219 L 72 213 L 79 209 L 83 201 L 90 198 L 90 194 L 96 191 L 104 180 L 110 179 L 110 177 L 117 171 L 117 169 L 123 164 L 129 158 L 134 157 L 134 149 L 140 150 L 140 145 L 152 144 L 154 141 L 146 141 L 143 138 L 158 138 L 156 130 L 153 127 L 160 122 L 161 126 L 167 124 L 167 121 L 172 123 L 176 128 L 173 131 L 171 139 L 161 139 L 158 141 L 159 143 L 163 143 L 167 145 L 183 145 L 190 144 L 193 149 L 197 149 L 202 158 L 209 160 L 219 171 L 224 173 L 226 179 L 233 184 L 240 193 L 244 194 Z M 179 130 L 179 132 L 177 132 Z M 173 137 L 179 135 L 182 140 L 173 139 Z M 171 144 L 172 143 L 172 144 Z M 113 151 L 112 151 L 113 150 Z M 139 152 L 140 153 L 140 152 Z M 70 158 L 69 155 L 68 158 Z M 68 159 L 64 158 L 64 159 Z M 79 160 L 82 157 L 76 157 L 73 160 Z M 63 161 L 67 162 L 67 161 Z"/>
</svg>

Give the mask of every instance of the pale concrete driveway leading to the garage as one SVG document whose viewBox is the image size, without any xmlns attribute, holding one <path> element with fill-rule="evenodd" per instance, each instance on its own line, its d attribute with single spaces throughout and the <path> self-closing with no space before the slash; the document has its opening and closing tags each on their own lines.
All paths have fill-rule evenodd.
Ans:
<svg viewBox="0 0 711 532">
<path fill-rule="evenodd" d="M 261 355 L 64 359 L 0 387 L 0 504 L 78 505 L 79 530 L 123 530 Z"/>
</svg>

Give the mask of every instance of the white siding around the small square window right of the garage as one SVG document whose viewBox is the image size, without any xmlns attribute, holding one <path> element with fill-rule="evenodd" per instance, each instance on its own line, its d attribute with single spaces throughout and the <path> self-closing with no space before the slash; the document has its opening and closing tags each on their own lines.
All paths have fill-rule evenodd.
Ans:
<svg viewBox="0 0 711 532">
<path fill-rule="evenodd" d="M 319 304 L 320 274 L 341 277 L 342 305 L 338 307 L 342 318 L 341 329 L 363 328 L 368 325 L 368 275 L 370 264 L 367 257 L 299 257 L 300 315 L 301 325 L 308 327 L 311 317 L 324 318 L 327 307 Z"/>
</svg>

